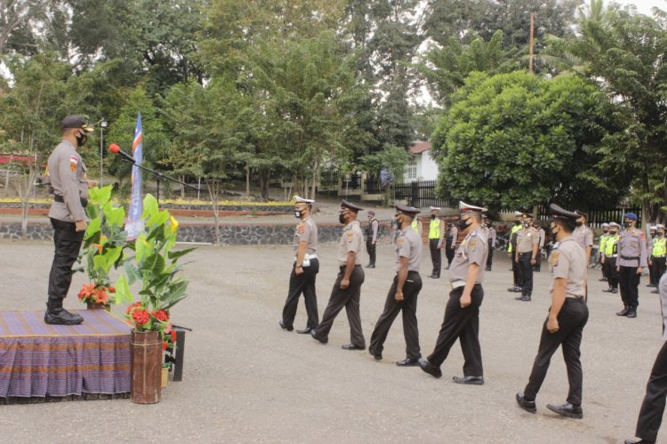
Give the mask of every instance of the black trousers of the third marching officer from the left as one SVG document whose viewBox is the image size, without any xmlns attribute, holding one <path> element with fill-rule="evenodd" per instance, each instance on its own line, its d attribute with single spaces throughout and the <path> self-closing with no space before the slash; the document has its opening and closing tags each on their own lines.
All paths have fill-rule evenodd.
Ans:
<svg viewBox="0 0 667 444">
<path fill-rule="evenodd" d="M 422 278 L 417 271 L 407 273 L 406 283 L 403 285 L 403 301 L 397 302 L 396 287 L 398 285 L 398 275 L 394 277 L 391 283 L 387 300 L 384 302 L 384 311 L 377 320 L 373 335 L 371 335 L 371 345 L 376 353 L 382 353 L 384 341 L 391 324 L 398 316 L 398 312 L 403 312 L 403 336 L 406 338 L 406 357 L 409 359 L 418 359 L 422 357 L 419 348 L 419 329 L 417 328 L 417 296 L 422 289 Z"/>
</svg>

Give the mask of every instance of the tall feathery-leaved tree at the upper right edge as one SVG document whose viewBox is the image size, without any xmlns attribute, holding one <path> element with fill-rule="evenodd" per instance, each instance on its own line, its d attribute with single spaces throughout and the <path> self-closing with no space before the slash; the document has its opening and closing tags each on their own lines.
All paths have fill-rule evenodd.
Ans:
<svg viewBox="0 0 667 444">
<path fill-rule="evenodd" d="M 601 151 L 603 163 L 631 178 L 631 196 L 647 221 L 664 221 L 667 201 L 667 16 L 606 8 L 591 0 L 582 10 L 578 37 L 553 39 L 550 53 L 559 69 L 572 69 L 597 82 L 624 119 L 626 131 Z"/>
</svg>

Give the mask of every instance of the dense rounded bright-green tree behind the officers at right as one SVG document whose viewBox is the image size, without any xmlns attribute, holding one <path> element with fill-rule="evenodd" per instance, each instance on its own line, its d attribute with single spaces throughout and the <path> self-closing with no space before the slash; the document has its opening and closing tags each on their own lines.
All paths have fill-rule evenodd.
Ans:
<svg viewBox="0 0 667 444">
<path fill-rule="evenodd" d="M 615 202 L 623 182 L 599 168 L 600 152 L 619 131 L 609 108 L 603 93 L 575 76 L 473 73 L 433 136 L 440 194 L 494 210 Z"/>
</svg>

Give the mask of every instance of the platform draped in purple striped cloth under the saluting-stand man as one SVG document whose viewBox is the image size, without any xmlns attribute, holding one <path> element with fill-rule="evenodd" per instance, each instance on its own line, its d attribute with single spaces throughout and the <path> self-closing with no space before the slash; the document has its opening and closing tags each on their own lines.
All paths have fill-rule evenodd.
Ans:
<svg viewBox="0 0 667 444">
<path fill-rule="evenodd" d="M 105 310 L 75 312 L 83 324 L 0 311 L 0 404 L 129 396 L 132 327 Z"/>
</svg>

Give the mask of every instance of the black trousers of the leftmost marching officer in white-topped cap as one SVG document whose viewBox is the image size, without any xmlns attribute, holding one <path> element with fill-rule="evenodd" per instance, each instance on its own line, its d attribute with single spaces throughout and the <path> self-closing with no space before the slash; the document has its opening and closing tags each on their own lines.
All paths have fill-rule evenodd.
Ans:
<svg viewBox="0 0 667 444">
<path fill-rule="evenodd" d="M 299 305 L 299 296 L 303 294 L 308 313 L 308 328 L 317 328 L 319 320 L 317 316 L 317 295 L 315 294 L 315 279 L 319 271 L 319 261 L 310 259 L 310 266 L 303 267 L 301 275 L 296 274 L 294 267 L 290 274 L 290 288 L 287 291 L 287 300 L 283 307 L 283 325 L 287 328 L 293 327 L 296 308 Z"/>
</svg>

